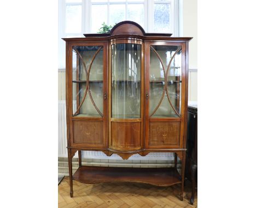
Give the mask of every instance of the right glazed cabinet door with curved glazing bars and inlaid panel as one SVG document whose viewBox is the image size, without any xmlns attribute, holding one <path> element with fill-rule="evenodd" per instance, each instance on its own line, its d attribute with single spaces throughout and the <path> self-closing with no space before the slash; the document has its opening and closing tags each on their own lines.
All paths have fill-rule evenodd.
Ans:
<svg viewBox="0 0 256 208">
<path fill-rule="evenodd" d="M 146 149 L 182 148 L 185 44 L 146 43 Z"/>
</svg>

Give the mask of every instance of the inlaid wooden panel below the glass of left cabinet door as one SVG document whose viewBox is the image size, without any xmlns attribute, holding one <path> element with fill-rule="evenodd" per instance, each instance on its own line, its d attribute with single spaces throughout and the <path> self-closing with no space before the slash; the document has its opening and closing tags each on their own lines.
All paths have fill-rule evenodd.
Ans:
<svg viewBox="0 0 256 208">
<path fill-rule="evenodd" d="M 73 121 L 74 144 L 83 146 L 104 147 L 103 121 Z"/>
</svg>

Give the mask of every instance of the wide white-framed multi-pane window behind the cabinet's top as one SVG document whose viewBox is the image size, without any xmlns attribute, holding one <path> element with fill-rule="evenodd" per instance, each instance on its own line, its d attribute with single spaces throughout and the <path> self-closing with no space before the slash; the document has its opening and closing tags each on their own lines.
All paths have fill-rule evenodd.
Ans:
<svg viewBox="0 0 256 208">
<path fill-rule="evenodd" d="M 179 36 L 181 0 L 59 0 L 59 69 L 65 69 L 65 42 L 61 38 L 97 33 L 102 23 L 130 20 L 146 32 Z"/>
</svg>

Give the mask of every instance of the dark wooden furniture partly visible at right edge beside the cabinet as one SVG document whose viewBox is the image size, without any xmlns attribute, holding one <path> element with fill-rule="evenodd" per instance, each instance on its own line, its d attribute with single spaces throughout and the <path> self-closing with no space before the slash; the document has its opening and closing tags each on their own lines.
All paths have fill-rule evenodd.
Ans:
<svg viewBox="0 0 256 208">
<path fill-rule="evenodd" d="M 197 107 L 188 106 L 188 132 L 185 177 L 191 181 L 190 204 L 194 204 L 197 182 Z"/>
</svg>

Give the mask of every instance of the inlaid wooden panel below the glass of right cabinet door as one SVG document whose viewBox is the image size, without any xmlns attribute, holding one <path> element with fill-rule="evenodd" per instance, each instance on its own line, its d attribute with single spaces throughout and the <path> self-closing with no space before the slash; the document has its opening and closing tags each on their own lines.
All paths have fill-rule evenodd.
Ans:
<svg viewBox="0 0 256 208">
<path fill-rule="evenodd" d="M 180 122 L 149 122 L 149 146 L 179 146 Z"/>
</svg>

